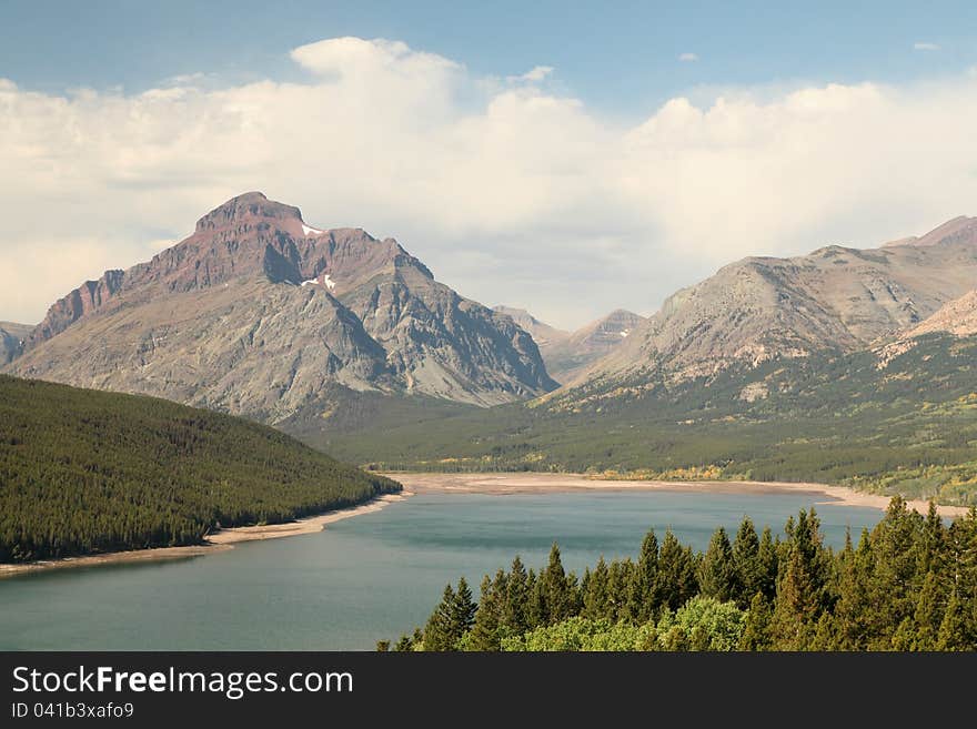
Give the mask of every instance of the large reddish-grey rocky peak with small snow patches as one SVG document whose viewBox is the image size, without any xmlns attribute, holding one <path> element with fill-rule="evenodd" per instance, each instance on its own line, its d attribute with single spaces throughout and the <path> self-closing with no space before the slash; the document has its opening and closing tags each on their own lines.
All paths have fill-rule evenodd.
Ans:
<svg viewBox="0 0 977 729">
<path fill-rule="evenodd" d="M 259 192 L 56 302 L 8 371 L 268 423 L 321 423 L 355 393 L 493 405 L 556 386 L 526 332 L 395 240 L 311 227 Z"/>
</svg>

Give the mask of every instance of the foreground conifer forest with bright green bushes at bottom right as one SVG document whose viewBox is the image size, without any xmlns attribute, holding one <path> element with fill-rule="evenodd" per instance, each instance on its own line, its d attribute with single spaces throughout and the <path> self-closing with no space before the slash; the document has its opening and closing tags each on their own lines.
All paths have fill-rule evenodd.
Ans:
<svg viewBox="0 0 977 729">
<path fill-rule="evenodd" d="M 603 558 L 577 577 L 548 564 L 444 588 L 423 628 L 382 651 L 973 651 L 977 509 L 947 525 L 894 497 L 885 517 L 837 553 L 817 514 L 783 534 L 743 520 L 705 553 L 649 531 L 636 559 Z"/>
</svg>

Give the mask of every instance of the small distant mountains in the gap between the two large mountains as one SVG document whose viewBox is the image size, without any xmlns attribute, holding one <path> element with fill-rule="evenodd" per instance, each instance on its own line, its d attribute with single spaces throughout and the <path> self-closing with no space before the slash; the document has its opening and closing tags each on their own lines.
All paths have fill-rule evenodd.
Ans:
<svg viewBox="0 0 977 729">
<path fill-rule="evenodd" d="M 524 308 L 495 306 L 494 311 L 505 314 L 532 335 L 546 363 L 546 372 L 563 384 L 572 382 L 617 347 L 645 321 L 644 316 L 618 308 L 575 332 L 564 332 L 544 324 Z"/>
</svg>

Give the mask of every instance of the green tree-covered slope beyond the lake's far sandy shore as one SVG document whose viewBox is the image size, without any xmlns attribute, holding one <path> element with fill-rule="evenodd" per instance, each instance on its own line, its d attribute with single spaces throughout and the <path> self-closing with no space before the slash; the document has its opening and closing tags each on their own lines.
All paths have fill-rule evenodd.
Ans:
<svg viewBox="0 0 977 729">
<path fill-rule="evenodd" d="M 678 386 L 643 373 L 528 405 L 300 435 L 380 469 L 816 480 L 977 504 L 977 337 L 930 335 L 878 364 L 824 354 Z M 745 399 L 748 384 L 763 396 Z"/>
</svg>

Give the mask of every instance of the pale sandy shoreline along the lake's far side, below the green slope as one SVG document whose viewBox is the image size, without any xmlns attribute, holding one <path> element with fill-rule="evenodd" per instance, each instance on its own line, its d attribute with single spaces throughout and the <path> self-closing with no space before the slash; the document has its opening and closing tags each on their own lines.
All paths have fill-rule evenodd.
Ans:
<svg viewBox="0 0 977 729">
<path fill-rule="evenodd" d="M 495 474 L 384 474 L 404 485 L 414 493 L 440 494 L 560 494 L 581 490 L 628 492 L 628 490 L 667 490 L 696 492 L 701 494 L 784 494 L 804 493 L 820 494 L 826 497 L 820 504 L 838 504 L 842 506 L 867 506 L 885 510 L 889 505 L 888 496 L 865 494 L 846 486 L 828 486 L 826 484 L 789 483 L 789 482 L 746 482 L 746 480 L 606 480 L 596 479 L 584 474 L 536 474 L 536 473 L 495 473 Z M 913 500 L 909 507 L 920 514 L 929 509 L 928 502 Z M 963 506 L 938 506 L 940 516 L 956 517 L 967 514 Z"/>
</svg>

